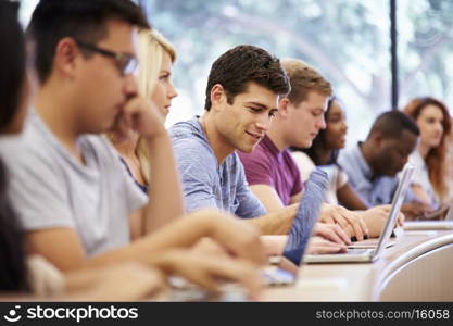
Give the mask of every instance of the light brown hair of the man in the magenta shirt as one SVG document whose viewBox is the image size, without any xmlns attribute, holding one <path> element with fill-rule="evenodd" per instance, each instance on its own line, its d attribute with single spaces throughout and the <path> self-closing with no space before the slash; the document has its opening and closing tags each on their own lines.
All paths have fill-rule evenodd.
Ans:
<svg viewBox="0 0 453 326">
<path fill-rule="evenodd" d="M 291 83 L 291 91 L 287 96 L 293 104 L 306 100 L 309 92 L 315 90 L 320 95 L 331 97 L 332 87 L 330 83 L 315 68 L 298 59 L 281 60 Z"/>
</svg>

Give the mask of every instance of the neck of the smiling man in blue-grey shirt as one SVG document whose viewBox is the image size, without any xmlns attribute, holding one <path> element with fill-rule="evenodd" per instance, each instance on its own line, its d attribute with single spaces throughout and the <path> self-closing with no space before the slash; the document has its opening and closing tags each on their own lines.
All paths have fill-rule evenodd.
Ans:
<svg viewBox="0 0 453 326">
<path fill-rule="evenodd" d="M 236 148 L 218 133 L 213 113 L 205 112 L 200 117 L 200 123 L 204 134 L 206 134 L 207 142 L 214 151 L 217 163 L 221 165 L 224 163 L 225 159 L 236 150 Z"/>
</svg>

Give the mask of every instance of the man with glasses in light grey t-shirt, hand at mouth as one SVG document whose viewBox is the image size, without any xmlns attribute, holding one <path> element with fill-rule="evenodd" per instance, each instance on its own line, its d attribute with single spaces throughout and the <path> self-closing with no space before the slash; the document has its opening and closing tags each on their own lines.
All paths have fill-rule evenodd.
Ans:
<svg viewBox="0 0 453 326">
<path fill-rule="evenodd" d="M 64 272 L 133 260 L 211 288 L 211 275 L 250 285 L 249 262 L 173 249 L 212 236 L 239 258 L 263 260 L 257 233 L 229 216 L 162 221 L 184 208 L 169 137 L 133 75 L 136 26 L 148 23 L 129 0 L 41 0 L 33 13 L 27 36 L 40 86 L 22 139 L 0 146 L 27 249 Z M 152 200 L 101 135 L 110 130 L 148 140 Z"/>
</svg>

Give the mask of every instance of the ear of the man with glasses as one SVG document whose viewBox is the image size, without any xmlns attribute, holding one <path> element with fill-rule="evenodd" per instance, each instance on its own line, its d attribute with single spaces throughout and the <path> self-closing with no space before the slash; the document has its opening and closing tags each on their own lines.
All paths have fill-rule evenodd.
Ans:
<svg viewBox="0 0 453 326">
<path fill-rule="evenodd" d="M 73 78 L 77 67 L 77 58 L 80 55 L 81 52 L 74 39 L 62 38 L 56 45 L 53 68 L 64 76 Z"/>
</svg>

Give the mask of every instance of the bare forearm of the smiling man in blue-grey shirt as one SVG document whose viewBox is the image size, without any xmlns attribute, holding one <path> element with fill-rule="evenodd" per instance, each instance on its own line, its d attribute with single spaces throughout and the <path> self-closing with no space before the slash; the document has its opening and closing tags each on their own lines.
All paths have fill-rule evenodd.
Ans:
<svg viewBox="0 0 453 326">
<path fill-rule="evenodd" d="M 299 204 L 292 204 L 279 211 L 247 221 L 257 227 L 262 235 L 288 235 L 298 208 Z"/>
</svg>

